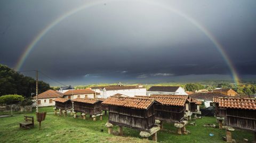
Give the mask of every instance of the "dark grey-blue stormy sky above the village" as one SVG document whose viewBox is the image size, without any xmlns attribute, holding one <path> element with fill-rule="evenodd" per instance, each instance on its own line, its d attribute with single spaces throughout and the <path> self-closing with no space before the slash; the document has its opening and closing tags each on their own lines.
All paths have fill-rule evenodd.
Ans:
<svg viewBox="0 0 256 143">
<path fill-rule="evenodd" d="M 40 31 L 91 2 L 0 0 L 0 63 L 14 68 Z M 256 1 L 101 2 L 54 26 L 21 70 L 38 69 L 66 85 L 231 79 L 227 63 L 204 32 L 159 6 L 164 5 L 210 31 L 241 79 L 255 80 Z"/>
</svg>

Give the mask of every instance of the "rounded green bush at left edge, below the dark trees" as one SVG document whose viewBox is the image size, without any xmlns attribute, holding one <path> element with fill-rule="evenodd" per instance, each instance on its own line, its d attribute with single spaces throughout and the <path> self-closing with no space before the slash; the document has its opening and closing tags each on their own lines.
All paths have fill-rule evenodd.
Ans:
<svg viewBox="0 0 256 143">
<path fill-rule="evenodd" d="M 24 100 L 24 97 L 21 95 L 4 95 L 0 97 L 0 104 L 18 104 Z"/>
</svg>

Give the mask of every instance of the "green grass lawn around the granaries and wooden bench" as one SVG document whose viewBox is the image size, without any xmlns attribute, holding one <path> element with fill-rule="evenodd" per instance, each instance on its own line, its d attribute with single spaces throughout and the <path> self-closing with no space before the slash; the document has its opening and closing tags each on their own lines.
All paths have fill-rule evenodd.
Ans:
<svg viewBox="0 0 256 143">
<path fill-rule="evenodd" d="M 52 107 L 41 108 L 39 111 L 52 112 Z M 30 113 L 27 115 L 34 115 Z M 74 119 L 71 116 L 61 117 L 53 114 L 47 114 L 45 121 L 42 122 L 42 129 L 38 130 L 38 123 L 35 128 L 26 130 L 19 129 L 18 122 L 23 120 L 23 115 L 0 118 L 0 142 L 150 142 L 142 140 L 139 131 L 124 128 L 124 136 L 119 137 L 107 133 L 105 123 L 107 116 L 103 116 L 103 120 L 95 122 L 92 119 L 83 120 L 81 118 Z M 157 133 L 159 142 L 224 142 L 222 136 L 225 136 L 225 130 L 217 128 L 203 127 L 204 123 L 216 123 L 213 117 L 203 117 L 196 120 L 196 126 L 187 125 L 187 130 L 191 132 L 188 135 L 178 135 L 173 124 L 164 124 L 164 131 Z M 114 127 L 117 131 L 117 127 Z M 209 136 L 213 133 L 214 136 Z M 253 133 L 236 129 L 233 132 L 233 138 L 237 142 L 243 142 L 243 138 L 253 140 Z M 151 138 L 150 138 L 151 139 Z"/>
</svg>

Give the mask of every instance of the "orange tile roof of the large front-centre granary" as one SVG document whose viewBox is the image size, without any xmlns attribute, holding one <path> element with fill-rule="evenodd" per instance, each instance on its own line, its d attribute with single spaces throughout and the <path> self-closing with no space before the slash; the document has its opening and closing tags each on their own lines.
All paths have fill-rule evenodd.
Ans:
<svg viewBox="0 0 256 143">
<path fill-rule="evenodd" d="M 112 96 L 108 97 L 102 104 L 147 110 L 154 102 L 155 100 L 153 99 Z"/>
</svg>

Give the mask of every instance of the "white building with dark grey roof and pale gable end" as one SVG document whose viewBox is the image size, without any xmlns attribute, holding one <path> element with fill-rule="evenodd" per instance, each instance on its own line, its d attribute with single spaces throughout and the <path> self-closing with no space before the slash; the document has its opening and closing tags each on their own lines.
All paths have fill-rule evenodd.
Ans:
<svg viewBox="0 0 256 143">
<path fill-rule="evenodd" d="M 147 91 L 150 95 L 188 95 L 187 92 L 179 86 L 152 86 Z"/>
</svg>

